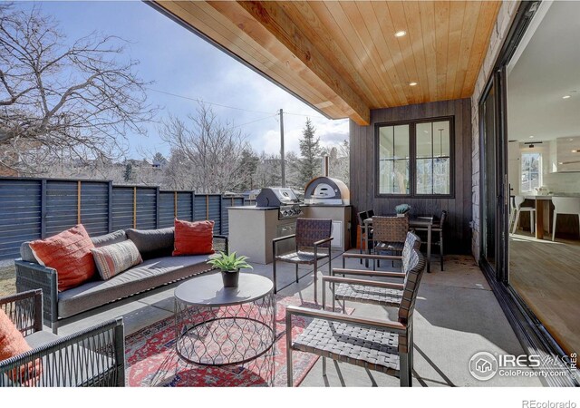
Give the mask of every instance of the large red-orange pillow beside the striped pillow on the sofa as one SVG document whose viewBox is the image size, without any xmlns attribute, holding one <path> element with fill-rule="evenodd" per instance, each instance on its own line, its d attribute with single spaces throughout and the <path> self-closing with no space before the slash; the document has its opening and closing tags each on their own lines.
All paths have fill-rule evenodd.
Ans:
<svg viewBox="0 0 580 408">
<path fill-rule="evenodd" d="M 56 269 L 59 292 L 78 287 L 97 270 L 91 253 L 94 245 L 82 224 L 51 238 L 32 241 L 30 248 L 39 263 Z"/>
</svg>

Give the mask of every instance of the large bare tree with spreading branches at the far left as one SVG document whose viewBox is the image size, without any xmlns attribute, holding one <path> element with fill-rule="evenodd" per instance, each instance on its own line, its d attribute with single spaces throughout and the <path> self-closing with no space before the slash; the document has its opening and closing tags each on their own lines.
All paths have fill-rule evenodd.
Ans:
<svg viewBox="0 0 580 408">
<path fill-rule="evenodd" d="M 144 133 L 155 110 L 139 62 L 121 62 L 124 41 L 66 43 L 37 7 L 0 6 L 0 165 L 38 173 L 56 158 L 118 158 L 128 131 Z"/>
</svg>

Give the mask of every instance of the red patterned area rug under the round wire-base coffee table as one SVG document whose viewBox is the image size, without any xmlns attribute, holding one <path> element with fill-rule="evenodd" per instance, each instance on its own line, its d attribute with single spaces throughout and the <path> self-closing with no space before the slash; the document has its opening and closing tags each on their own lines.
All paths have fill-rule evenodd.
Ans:
<svg viewBox="0 0 580 408">
<path fill-rule="evenodd" d="M 286 386 L 286 345 L 285 345 L 285 306 L 304 306 L 320 309 L 313 303 L 302 303 L 296 297 L 276 296 L 276 336 L 274 345 L 275 386 Z M 348 310 L 352 313 L 352 310 Z M 293 318 L 293 335 L 299 335 L 310 319 Z M 267 386 L 263 375 L 263 365 L 255 363 L 244 365 L 209 367 L 188 364 L 181 360 L 175 350 L 175 319 L 173 316 L 145 327 L 129 335 L 125 340 L 126 379 L 132 387 L 171 386 L 171 387 L 246 387 Z M 295 385 L 302 383 L 304 377 L 314 366 L 318 356 L 293 352 Z M 270 360 L 271 361 L 271 360 Z M 262 363 L 263 364 L 263 363 Z M 271 366 L 271 363 L 268 363 Z"/>
</svg>

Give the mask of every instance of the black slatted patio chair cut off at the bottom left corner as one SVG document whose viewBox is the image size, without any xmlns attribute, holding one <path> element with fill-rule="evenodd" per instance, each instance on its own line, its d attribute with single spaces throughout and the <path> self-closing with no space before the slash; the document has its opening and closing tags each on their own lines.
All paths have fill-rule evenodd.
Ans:
<svg viewBox="0 0 580 408">
<path fill-rule="evenodd" d="M 65 337 L 43 330 L 42 290 L 0 299 L 32 350 L 0 361 L 0 387 L 125 386 L 122 318 Z"/>
</svg>

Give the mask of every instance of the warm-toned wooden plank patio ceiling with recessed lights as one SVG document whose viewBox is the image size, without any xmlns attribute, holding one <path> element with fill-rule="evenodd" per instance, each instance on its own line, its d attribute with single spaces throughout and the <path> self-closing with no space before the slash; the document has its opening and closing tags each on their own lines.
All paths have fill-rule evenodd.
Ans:
<svg viewBox="0 0 580 408">
<path fill-rule="evenodd" d="M 372 109 L 471 96 L 500 4 L 155 2 L 327 116 L 361 125 Z"/>
</svg>

